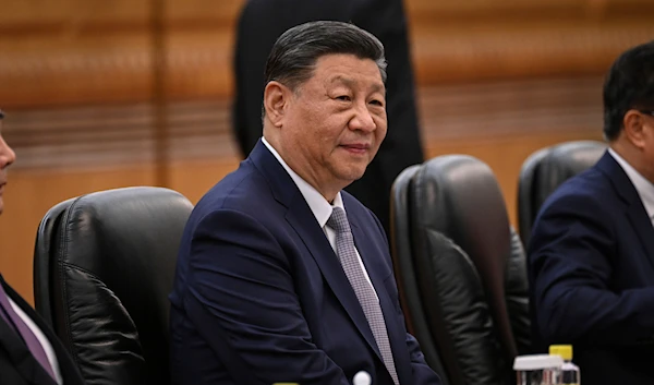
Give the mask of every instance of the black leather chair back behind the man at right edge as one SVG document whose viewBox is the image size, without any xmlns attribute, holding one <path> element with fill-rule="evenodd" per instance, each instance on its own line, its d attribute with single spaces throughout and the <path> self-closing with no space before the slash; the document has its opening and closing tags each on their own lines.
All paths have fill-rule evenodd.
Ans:
<svg viewBox="0 0 654 385">
<path fill-rule="evenodd" d="M 518 226 L 526 245 L 532 226 L 545 200 L 566 180 L 593 166 L 607 145 L 577 141 L 540 149 L 522 164 L 518 183 Z"/>
</svg>

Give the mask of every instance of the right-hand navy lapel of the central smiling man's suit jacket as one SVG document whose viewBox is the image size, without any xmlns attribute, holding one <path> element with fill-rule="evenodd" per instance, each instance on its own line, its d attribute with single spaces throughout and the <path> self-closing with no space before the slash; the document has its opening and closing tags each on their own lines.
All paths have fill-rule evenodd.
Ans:
<svg viewBox="0 0 654 385">
<path fill-rule="evenodd" d="M 411 378 L 411 362 L 409 356 L 404 353 L 407 348 L 407 334 L 400 333 L 404 330 L 403 326 L 399 323 L 396 305 L 393 303 L 390 293 L 386 289 L 385 280 L 390 278 L 392 272 L 384 270 L 384 254 L 379 249 L 379 244 L 373 243 L 374 240 L 378 240 L 383 244 L 383 240 L 374 234 L 365 233 L 365 227 L 362 226 L 355 215 L 351 215 L 351 210 L 348 210 L 348 220 L 352 228 L 352 236 L 354 237 L 354 243 L 359 255 L 363 260 L 365 269 L 368 273 L 371 281 L 375 287 L 377 297 L 379 298 L 379 305 L 384 313 L 384 321 L 386 322 L 386 329 L 388 332 L 388 339 L 390 340 L 390 347 L 392 350 L 392 358 L 396 365 L 396 371 L 400 383 L 409 381 Z M 374 225 L 374 224 L 371 224 Z"/>
</svg>

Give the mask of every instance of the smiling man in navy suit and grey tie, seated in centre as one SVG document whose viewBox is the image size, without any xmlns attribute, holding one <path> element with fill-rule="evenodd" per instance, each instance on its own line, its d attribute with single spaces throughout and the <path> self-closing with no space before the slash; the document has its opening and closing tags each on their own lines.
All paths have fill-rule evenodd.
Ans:
<svg viewBox="0 0 654 385">
<path fill-rule="evenodd" d="M 264 137 L 196 205 L 171 308 L 174 384 L 433 385 L 407 333 L 388 243 L 341 191 L 386 134 L 386 60 L 372 34 L 319 21 L 266 63 Z"/>
</svg>

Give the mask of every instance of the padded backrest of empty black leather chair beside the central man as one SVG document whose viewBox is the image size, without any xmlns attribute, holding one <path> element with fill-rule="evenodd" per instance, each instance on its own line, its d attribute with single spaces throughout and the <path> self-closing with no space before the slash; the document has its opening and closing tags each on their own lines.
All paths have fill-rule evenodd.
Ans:
<svg viewBox="0 0 654 385">
<path fill-rule="evenodd" d="M 516 353 L 508 318 L 505 278 L 511 232 L 505 201 L 493 170 L 467 155 L 436 157 L 414 177 L 411 214 L 417 228 L 437 231 L 470 256 L 488 298 L 509 357 Z M 420 234 L 413 233 L 415 244 Z"/>
</svg>

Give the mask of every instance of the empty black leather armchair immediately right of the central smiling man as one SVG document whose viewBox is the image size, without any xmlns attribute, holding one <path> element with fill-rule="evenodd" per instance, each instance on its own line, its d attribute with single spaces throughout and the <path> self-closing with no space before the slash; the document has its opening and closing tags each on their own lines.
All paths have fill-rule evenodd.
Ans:
<svg viewBox="0 0 654 385">
<path fill-rule="evenodd" d="M 408 316 L 416 338 L 425 345 L 421 339 L 428 335 L 416 327 L 425 322 L 427 342 L 450 384 L 511 383 L 513 357 L 530 349 L 528 284 L 524 252 L 495 176 L 482 161 L 460 155 L 407 172 L 407 204 L 398 204 L 398 189 L 391 203 L 408 224 L 391 238 L 404 308 L 417 306 L 416 299 L 404 298 L 415 291 L 422 304 L 422 315 L 410 310 Z M 403 243 L 410 246 L 398 248 Z"/>
</svg>

